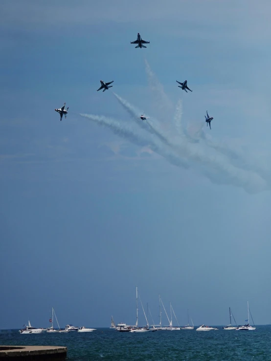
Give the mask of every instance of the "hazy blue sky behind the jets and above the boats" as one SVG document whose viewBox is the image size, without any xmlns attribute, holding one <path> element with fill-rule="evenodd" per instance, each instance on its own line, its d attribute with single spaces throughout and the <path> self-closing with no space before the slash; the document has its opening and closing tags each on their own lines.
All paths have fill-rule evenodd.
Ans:
<svg viewBox="0 0 271 361">
<path fill-rule="evenodd" d="M 0 328 L 270 323 L 270 1 L 55 3 L 0 4 Z"/>
</svg>

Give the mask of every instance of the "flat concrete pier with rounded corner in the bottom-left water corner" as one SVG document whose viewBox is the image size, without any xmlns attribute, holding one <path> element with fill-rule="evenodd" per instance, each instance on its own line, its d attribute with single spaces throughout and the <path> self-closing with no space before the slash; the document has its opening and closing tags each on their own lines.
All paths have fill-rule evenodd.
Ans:
<svg viewBox="0 0 271 361">
<path fill-rule="evenodd" d="M 66 357 L 64 346 L 0 346 L 0 361 L 63 361 Z"/>
</svg>

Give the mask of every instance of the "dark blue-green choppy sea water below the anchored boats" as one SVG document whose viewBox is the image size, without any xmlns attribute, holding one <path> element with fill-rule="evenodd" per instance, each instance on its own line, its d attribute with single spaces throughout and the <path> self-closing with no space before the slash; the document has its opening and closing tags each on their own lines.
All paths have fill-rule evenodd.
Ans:
<svg viewBox="0 0 271 361">
<path fill-rule="evenodd" d="M 1 345 L 68 347 L 68 361 L 271 361 L 271 326 L 255 331 L 195 330 L 119 333 L 99 328 L 90 333 L 20 335 L 0 331 Z"/>
</svg>

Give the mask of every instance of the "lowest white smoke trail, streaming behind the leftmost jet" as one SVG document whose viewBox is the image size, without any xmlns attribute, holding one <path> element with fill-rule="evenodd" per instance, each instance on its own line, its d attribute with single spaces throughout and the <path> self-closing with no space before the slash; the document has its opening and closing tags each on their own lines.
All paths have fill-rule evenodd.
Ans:
<svg viewBox="0 0 271 361">
<path fill-rule="evenodd" d="M 181 159 L 180 156 L 177 156 L 171 150 L 165 149 L 163 146 L 159 146 L 156 142 L 153 142 L 149 139 L 145 139 L 141 135 L 136 134 L 131 127 L 127 127 L 121 124 L 120 122 L 105 116 L 99 116 L 93 114 L 80 114 L 80 115 L 81 117 L 88 118 L 101 126 L 108 127 L 113 131 L 113 133 L 119 135 L 122 138 L 128 139 L 131 143 L 134 143 L 138 146 L 149 147 L 154 152 L 164 157 L 169 163 L 177 167 L 188 168 L 187 162 Z"/>
</svg>

